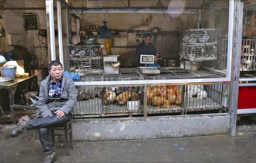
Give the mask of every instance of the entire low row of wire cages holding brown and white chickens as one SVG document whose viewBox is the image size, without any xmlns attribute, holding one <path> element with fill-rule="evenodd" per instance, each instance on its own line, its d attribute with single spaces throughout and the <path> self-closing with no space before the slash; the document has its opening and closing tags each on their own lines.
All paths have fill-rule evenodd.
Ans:
<svg viewBox="0 0 256 163">
<path fill-rule="evenodd" d="M 227 84 L 77 87 L 74 107 L 77 117 L 162 113 L 186 114 L 191 111 L 221 110 L 225 106 Z M 145 91 L 147 90 L 147 91 Z"/>
</svg>

